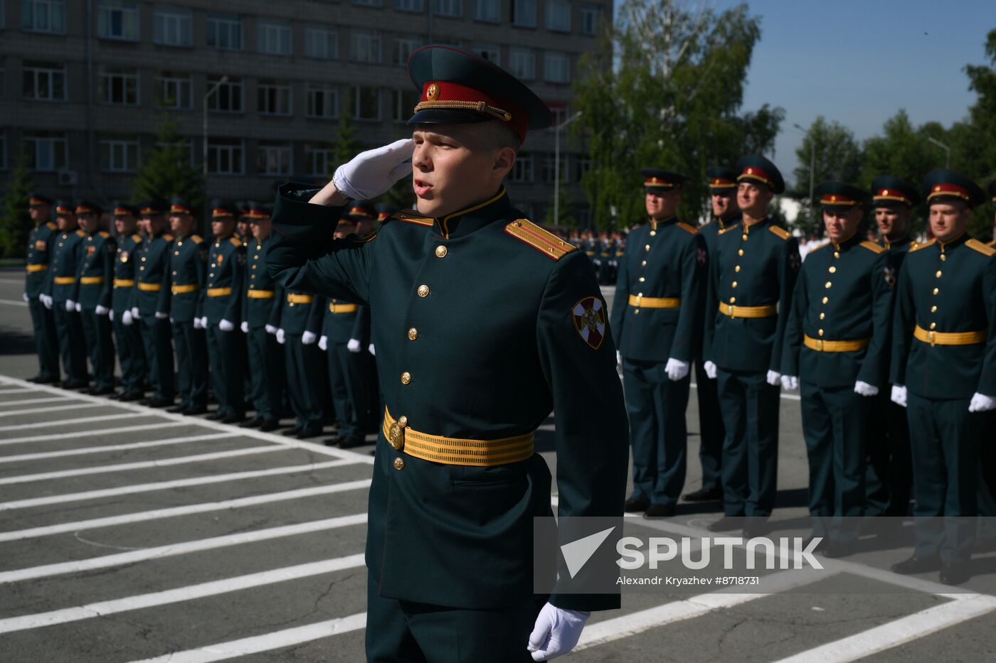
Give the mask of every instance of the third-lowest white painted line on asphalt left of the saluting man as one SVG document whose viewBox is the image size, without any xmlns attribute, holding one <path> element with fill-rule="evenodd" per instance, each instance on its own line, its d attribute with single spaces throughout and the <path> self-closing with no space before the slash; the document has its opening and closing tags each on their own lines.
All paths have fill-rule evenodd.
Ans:
<svg viewBox="0 0 996 663">
<path fill-rule="evenodd" d="M 0 572 L 0 583 L 18 582 L 21 580 L 32 580 L 39 577 L 52 577 L 54 575 L 64 575 L 66 573 L 79 573 L 83 571 L 95 570 L 98 568 L 111 568 L 112 566 L 122 566 L 133 564 L 138 561 L 148 559 L 161 559 L 177 554 L 188 554 L 190 552 L 213 551 L 219 548 L 230 546 L 241 546 L 242 544 L 255 544 L 261 541 L 272 539 L 283 539 L 284 537 L 294 537 L 303 534 L 313 534 L 316 532 L 327 532 L 338 528 L 346 528 L 353 525 L 363 525 L 367 523 L 367 514 L 352 514 L 350 516 L 340 516 L 338 518 L 327 518 L 321 521 L 310 521 L 308 523 L 298 523 L 296 525 L 283 525 L 278 528 L 267 528 L 265 530 L 253 530 L 251 532 L 240 532 L 222 537 L 212 537 L 210 539 L 199 539 L 180 544 L 169 544 L 168 546 L 156 546 L 155 548 L 145 548 L 140 551 L 118 552 L 116 554 L 105 554 L 100 557 L 90 557 L 88 559 L 75 559 L 73 561 L 60 561 L 54 564 L 43 564 L 41 566 L 28 566 L 10 571 Z"/>
</svg>

